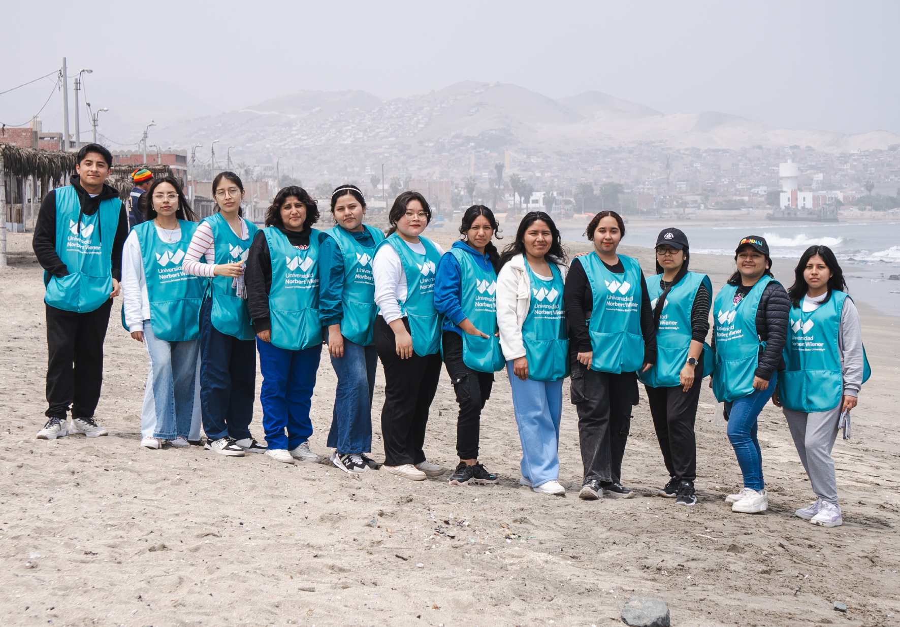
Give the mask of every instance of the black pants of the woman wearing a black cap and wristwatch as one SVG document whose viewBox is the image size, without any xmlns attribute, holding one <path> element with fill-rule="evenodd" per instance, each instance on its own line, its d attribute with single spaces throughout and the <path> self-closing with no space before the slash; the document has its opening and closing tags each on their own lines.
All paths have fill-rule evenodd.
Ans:
<svg viewBox="0 0 900 627">
<path fill-rule="evenodd" d="M 694 368 L 694 384 L 687 392 L 680 385 L 672 388 L 644 386 L 666 470 L 669 470 L 670 477 L 687 481 L 697 479 L 697 434 L 694 433 L 694 423 L 697 421 L 697 404 L 703 381 L 702 354 Z"/>
</svg>

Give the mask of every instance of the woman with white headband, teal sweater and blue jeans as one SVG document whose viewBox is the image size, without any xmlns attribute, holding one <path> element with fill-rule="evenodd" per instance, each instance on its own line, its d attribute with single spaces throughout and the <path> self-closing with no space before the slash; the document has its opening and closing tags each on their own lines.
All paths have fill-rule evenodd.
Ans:
<svg viewBox="0 0 900 627">
<path fill-rule="evenodd" d="M 375 470 L 372 451 L 372 396 L 378 354 L 373 344 L 375 282 L 372 260 L 384 234 L 363 224 L 365 198 L 356 185 L 331 194 L 335 226 L 319 246 L 319 318 L 331 366 L 338 376 L 328 446 L 331 462 L 346 472 Z"/>
</svg>

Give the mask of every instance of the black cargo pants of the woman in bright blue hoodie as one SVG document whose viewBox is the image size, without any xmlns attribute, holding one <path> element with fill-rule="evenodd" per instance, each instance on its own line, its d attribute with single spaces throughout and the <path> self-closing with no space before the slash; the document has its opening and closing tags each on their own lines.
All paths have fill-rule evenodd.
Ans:
<svg viewBox="0 0 900 627">
<path fill-rule="evenodd" d="M 463 338 L 454 331 L 445 331 L 444 365 L 456 392 L 459 416 L 456 418 L 456 454 L 461 460 L 478 459 L 482 409 L 491 398 L 493 372 L 474 371 L 463 363 Z"/>
</svg>

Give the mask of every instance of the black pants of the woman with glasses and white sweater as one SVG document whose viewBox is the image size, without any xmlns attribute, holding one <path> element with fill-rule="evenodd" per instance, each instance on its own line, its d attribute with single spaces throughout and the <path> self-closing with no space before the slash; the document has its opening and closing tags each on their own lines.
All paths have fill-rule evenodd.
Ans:
<svg viewBox="0 0 900 627">
<path fill-rule="evenodd" d="M 406 318 L 403 318 L 403 325 L 410 330 Z M 422 445 L 428 425 L 428 408 L 435 399 L 437 381 L 441 377 L 441 355 L 422 357 L 413 353 L 409 359 L 401 359 L 393 329 L 381 316 L 375 317 L 375 349 L 384 368 L 384 465 L 421 463 L 426 459 Z"/>
</svg>

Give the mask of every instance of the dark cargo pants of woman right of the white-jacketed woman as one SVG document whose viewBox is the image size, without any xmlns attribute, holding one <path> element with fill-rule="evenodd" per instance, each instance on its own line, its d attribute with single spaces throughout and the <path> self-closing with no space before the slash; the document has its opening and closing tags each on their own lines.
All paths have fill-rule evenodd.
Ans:
<svg viewBox="0 0 900 627">
<path fill-rule="evenodd" d="M 589 370 L 572 355 L 569 396 L 578 411 L 582 485 L 590 479 L 620 483 L 622 457 L 631 429 L 631 408 L 637 404 L 635 372 Z"/>
</svg>

